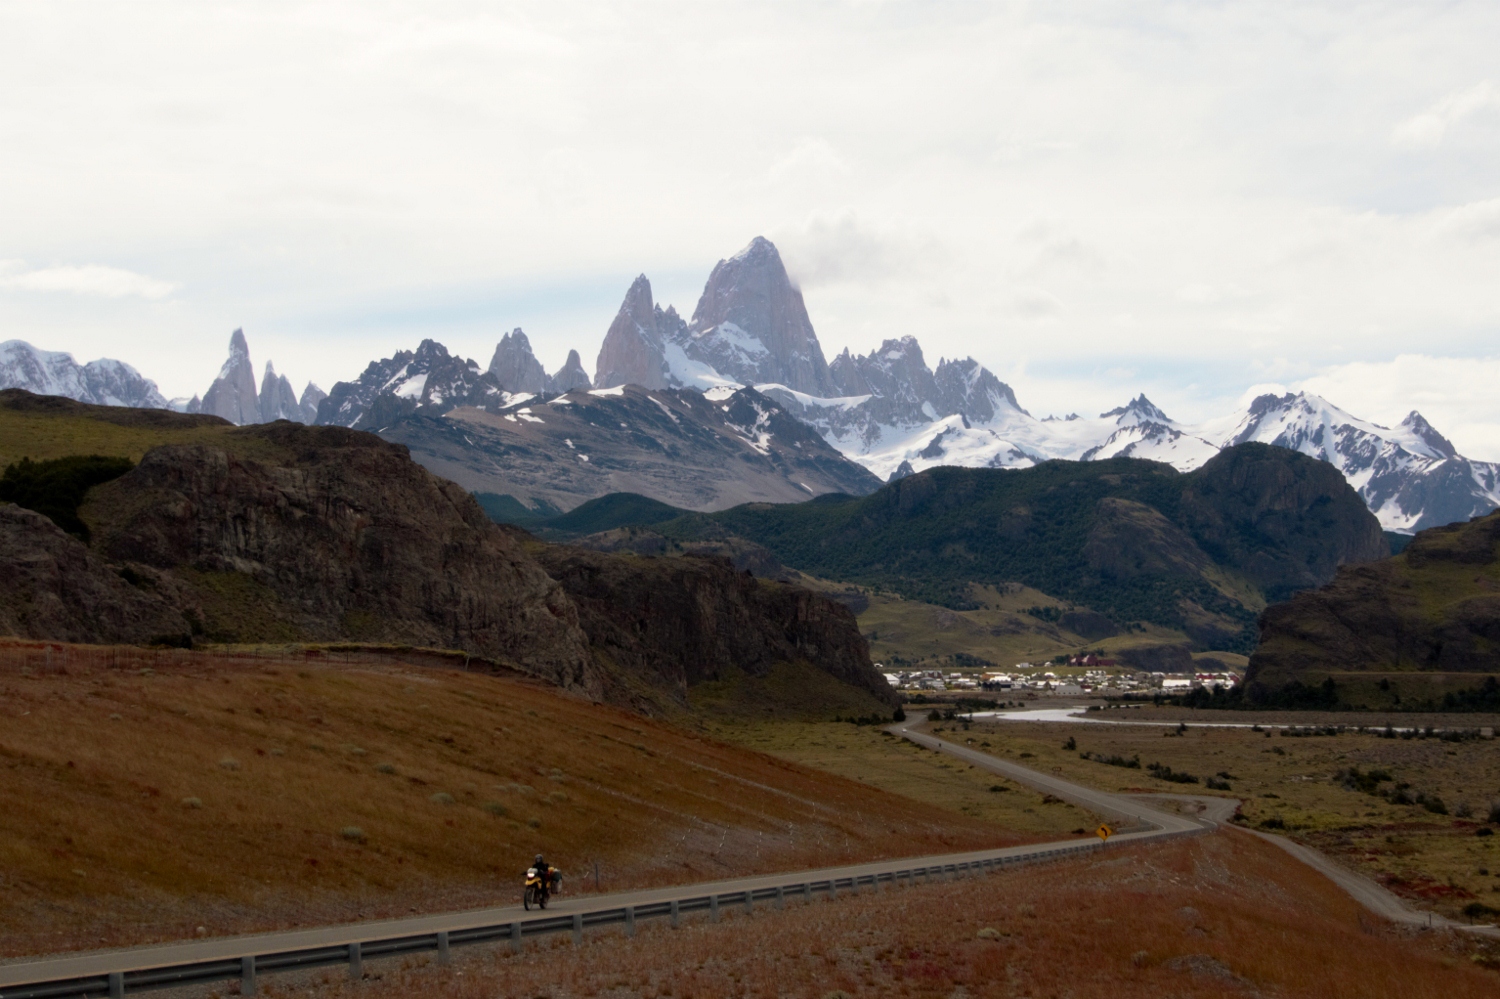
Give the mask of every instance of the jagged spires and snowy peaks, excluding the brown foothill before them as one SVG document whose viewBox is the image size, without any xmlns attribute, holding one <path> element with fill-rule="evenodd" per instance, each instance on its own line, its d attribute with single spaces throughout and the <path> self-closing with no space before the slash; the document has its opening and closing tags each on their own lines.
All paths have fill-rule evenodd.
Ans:
<svg viewBox="0 0 1500 999">
<path fill-rule="evenodd" d="M 1332 464 L 1390 531 L 1413 532 L 1500 506 L 1500 464 L 1458 454 L 1414 411 L 1398 428 L 1383 428 L 1316 394 L 1280 392 L 1200 424 L 1170 418 L 1143 394 L 1098 417 L 1036 418 L 972 357 L 928 366 L 915 336 L 888 339 L 864 356 L 844 350 L 826 363 L 801 291 L 764 237 L 718 261 L 690 320 L 657 303 L 645 274 L 632 282 L 591 381 L 576 351 L 548 375 L 518 328 L 501 338 L 486 370 L 423 340 L 416 351 L 372 362 L 322 402 L 309 386 L 292 405 L 284 382 L 267 366 L 256 393 L 249 351 L 236 332 L 230 360 L 202 404 L 184 408 L 236 423 L 298 418 L 380 429 L 417 412 L 494 410 L 588 386 L 746 387 L 882 482 L 938 465 L 1028 468 L 1052 459 L 1146 458 L 1191 471 L 1226 447 L 1260 441 Z M 590 447 L 603 453 L 602 442 Z"/>
</svg>

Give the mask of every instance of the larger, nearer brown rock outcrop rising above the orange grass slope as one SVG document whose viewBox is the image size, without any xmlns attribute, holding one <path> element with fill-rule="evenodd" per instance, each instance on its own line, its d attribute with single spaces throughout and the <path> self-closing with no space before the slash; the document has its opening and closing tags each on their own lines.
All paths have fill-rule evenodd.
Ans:
<svg viewBox="0 0 1500 999">
<path fill-rule="evenodd" d="M 96 549 L 177 576 L 202 630 L 250 638 L 236 632 L 258 616 L 309 639 L 462 648 L 602 693 L 558 585 L 404 447 L 290 423 L 225 442 L 158 447 L 86 508 Z"/>
</svg>

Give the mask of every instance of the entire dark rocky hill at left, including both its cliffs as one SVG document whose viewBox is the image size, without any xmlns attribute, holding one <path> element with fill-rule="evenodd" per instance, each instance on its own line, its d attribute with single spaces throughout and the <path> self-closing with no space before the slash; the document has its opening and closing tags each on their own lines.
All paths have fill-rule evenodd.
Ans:
<svg viewBox="0 0 1500 999">
<path fill-rule="evenodd" d="M 816 680 L 808 711 L 834 687 L 838 706 L 890 699 L 840 604 L 722 561 L 554 549 L 490 522 L 460 486 L 372 434 L 27 393 L 0 404 L 4 453 L 26 446 L 10 435 L 36 442 L 51 420 L 52 453 L 39 456 L 54 465 L 120 428 L 136 444 L 186 441 L 88 489 L 88 543 L 0 504 L 0 634 L 436 646 L 639 710 L 682 708 L 693 684 L 771 668 Z"/>
</svg>

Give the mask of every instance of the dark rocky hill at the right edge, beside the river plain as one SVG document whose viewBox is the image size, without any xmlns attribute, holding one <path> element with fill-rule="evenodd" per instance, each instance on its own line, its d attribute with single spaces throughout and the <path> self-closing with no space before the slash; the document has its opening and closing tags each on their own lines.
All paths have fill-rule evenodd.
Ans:
<svg viewBox="0 0 1500 999">
<path fill-rule="evenodd" d="M 1394 558 L 1268 608 L 1246 692 L 1382 672 L 1500 674 L 1500 512 L 1422 531 Z"/>
</svg>

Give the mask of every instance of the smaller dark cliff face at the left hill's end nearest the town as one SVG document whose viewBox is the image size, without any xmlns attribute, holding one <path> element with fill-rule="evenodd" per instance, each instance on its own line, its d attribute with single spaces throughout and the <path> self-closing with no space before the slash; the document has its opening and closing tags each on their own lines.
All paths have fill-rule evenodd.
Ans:
<svg viewBox="0 0 1500 999">
<path fill-rule="evenodd" d="M 688 687 L 730 669 L 764 676 L 776 663 L 816 668 L 884 705 L 900 704 L 870 664 L 854 614 L 808 590 L 758 580 L 723 558 L 564 546 L 537 556 L 578 606 L 596 656 L 678 704 Z"/>
</svg>

